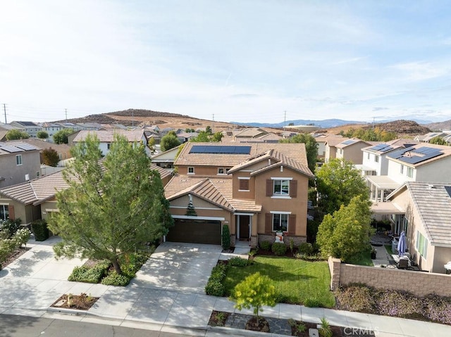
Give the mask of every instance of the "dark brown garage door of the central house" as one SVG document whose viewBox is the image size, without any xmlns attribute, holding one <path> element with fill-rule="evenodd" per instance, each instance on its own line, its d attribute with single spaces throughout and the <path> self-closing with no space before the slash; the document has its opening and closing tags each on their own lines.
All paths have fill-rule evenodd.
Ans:
<svg viewBox="0 0 451 337">
<path fill-rule="evenodd" d="M 168 241 L 221 245 L 221 221 L 174 219 Z"/>
</svg>

